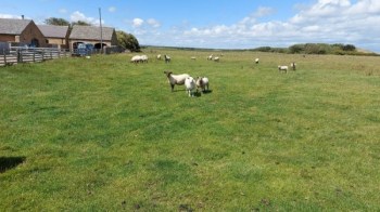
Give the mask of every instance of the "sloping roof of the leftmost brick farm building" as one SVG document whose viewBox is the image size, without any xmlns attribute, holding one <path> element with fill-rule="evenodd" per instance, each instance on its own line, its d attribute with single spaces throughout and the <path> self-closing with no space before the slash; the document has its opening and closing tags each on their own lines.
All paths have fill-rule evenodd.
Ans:
<svg viewBox="0 0 380 212">
<path fill-rule="evenodd" d="M 0 18 L 0 34 L 21 35 L 31 19 Z"/>
</svg>

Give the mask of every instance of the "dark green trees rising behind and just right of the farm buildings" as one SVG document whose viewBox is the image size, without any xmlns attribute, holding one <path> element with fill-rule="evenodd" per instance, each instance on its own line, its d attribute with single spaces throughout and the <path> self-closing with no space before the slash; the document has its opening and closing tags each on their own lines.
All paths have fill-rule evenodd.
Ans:
<svg viewBox="0 0 380 212">
<path fill-rule="evenodd" d="M 45 24 L 54 25 L 54 26 L 68 26 L 69 30 L 72 30 L 74 25 L 92 26 L 90 23 L 87 23 L 87 22 L 78 21 L 78 22 L 71 23 L 71 22 L 68 22 L 64 18 L 60 18 L 60 17 L 49 17 L 49 18 L 45 19 Z M 127 34 L 123 30 L 116 30 L 116 36 L 117 36 L 118 44 L 122 48 L 127 49 L 131 52 L 140 52 L 141 51 L 139 41 L 137 40 L 137 38 L 134 35 Z"/>
</svg>

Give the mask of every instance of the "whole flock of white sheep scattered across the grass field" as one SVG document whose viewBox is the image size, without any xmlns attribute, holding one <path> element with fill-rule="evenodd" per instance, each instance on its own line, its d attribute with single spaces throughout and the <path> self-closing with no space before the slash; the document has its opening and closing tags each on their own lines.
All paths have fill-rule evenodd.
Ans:
<svg viewBox="0 0 380 212">
<path fill-rule="evenodd" d="M 135 55 L 131 57 L 130 62 L 138 64 L 138 63 L 148 63 L 148 56 L 147 55 Z M 162 55 L 159 54 L 156 56 L 156 59 L 162 59 Z M 164 55 L 164 59 L 165 63 L 170 63 L 172 58 L 168 55 Z M 197 57 L 192 56 L 191 59 L 197 59 Z M 213 54 L 211 54 L 210 56 L 207 56 L 207 61 L 214 61 L 214 62 L 219 62 L 219 57 L 218 56 L 214 56 Z M 255 64 L 258 64 L 259 58 L 255 58 Z M 294 62 L 292 62 L 290 64 L 290 67 L 292 68 L 292 70 L 296 69 L 296 64 Z M 279 65 L 278 66 L 278 71 L 279 72 L 288 72 L 289 67 L 286 65 Z M 187 94 L 192 97 L 194 96 L 195 92 L 199 93 L 199 89 L 201 89 L 202 92 L 207 92 L 208 90 L 208 78 L 207 77 L 197 77 L 195 79 L 193 77 L 191 77 L 188 74 L 181 74 L 181 75 L 174 75 L 172 71 L 169 70 L 165 70 L 164 74 L 166 75 L 168 82 L 170 84 L 172 88 L 172 92 L 174 91 L 174 87 L 177 85 L 183 85 L 186 88 L 186 92 Z"/>
</svg>

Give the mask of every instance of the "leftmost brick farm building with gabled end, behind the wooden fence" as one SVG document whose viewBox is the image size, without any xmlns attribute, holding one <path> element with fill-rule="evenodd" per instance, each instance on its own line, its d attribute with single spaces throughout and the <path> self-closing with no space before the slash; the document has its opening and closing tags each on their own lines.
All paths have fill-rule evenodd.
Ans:
<svg viewBox="0 0 380 212">
<path fill-rule="evenodd" d="M 47 42 L 42 32 L 31 19 L 0 18 L 0 41 L 46 48 Z"/>
</svg>

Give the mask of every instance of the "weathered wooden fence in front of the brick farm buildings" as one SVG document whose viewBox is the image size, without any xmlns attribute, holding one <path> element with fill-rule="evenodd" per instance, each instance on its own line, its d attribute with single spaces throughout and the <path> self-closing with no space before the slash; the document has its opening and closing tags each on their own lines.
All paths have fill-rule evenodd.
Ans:
<svg viewBox="0 0 380 212">
<path fill-rule="evenodd" d="M 21 63 L 37 63 L 47 59 L 68 57 L 72 53 L 67 50 L 52 48 L 11 48 L 0 52 L 0 66 Z"/>
</svg>

